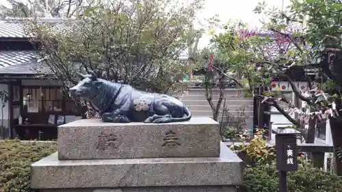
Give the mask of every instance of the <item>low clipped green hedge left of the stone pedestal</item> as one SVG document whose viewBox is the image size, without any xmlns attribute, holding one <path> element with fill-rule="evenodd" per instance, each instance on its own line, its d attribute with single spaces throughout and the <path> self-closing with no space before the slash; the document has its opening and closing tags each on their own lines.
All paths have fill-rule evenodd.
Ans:
<svg viewBox="0 0 342 192">
<path fill-rule="evenodd" d="M 0 192 L 30 192 L 30 165 L 57 150 L 55 143 L 0 141 Z"/>
</svg>

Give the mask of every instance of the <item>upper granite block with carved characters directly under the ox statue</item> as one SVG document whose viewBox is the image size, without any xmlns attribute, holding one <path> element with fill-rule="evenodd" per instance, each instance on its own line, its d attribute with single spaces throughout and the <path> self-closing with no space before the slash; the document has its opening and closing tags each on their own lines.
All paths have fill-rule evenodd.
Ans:
<svg viewBox="0 0 342 192">
<path fill-rule="evenodd" d="M 58 127 L 59 159 L 136 159 L 220 155 L 220 128 L 211 118 L 168 124 L 88 119 Z"/>
</svg>

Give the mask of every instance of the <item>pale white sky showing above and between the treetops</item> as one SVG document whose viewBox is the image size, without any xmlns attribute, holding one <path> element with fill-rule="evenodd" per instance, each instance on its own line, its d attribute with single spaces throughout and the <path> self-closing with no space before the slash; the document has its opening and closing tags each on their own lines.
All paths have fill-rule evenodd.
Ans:
<svg viewBox="0 0 342 192">
<path fill-rule="evenodd" d="M 3 3 L 5 0 L 0 0 L 1 4 L 10 6 L 9 3 Z M 26 0 L 18 0 L 26 3 Z M 191 3 L 193 0 L 183 0 Z M 258 2 L 262 0 L 205 0 L 204 9 L 198 13 L 198 19 L 203 22 L 206 18 L 210 18 L 214 15 L 218 15 L 218 18 L 222 20 L 222 24 L 226 23 L 229 19 L 237 20 L 241 19 L 242 22 L 248 23 L 248 27 L 260 27 L 259 20 L 261 16 L 254 14 L 252 11 Z M 289 5 L 290 0 L 265 0 L 267 6 L 275 6 L 282 8 L 282 2 L 284 2 L 284 8 Z M 196 24 L 195 24 L 196 27 Z M 216 30 L 217 33 L 220 29 Z M 211 36 L 204 34 L 199 42 L 199 48 L 207 46 L 209 44 Z"/>
</svg>

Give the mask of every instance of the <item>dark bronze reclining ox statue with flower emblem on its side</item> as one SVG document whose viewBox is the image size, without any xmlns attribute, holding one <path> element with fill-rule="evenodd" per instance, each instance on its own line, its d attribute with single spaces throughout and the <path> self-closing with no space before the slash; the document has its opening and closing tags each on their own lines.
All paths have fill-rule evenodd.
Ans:
<svg viewBox="0 0 342 192">
<path fill-rule="evenodd" d="M 91 102 L 100 110 L 103 122 L 169 123 L 192 118 L 184 103 L 172 96 L 135 90 L 131 85 L 100 79 L 92 71 L 77 74 L 82 80 L 70 88 L 70 95 Z"/>
</svg>

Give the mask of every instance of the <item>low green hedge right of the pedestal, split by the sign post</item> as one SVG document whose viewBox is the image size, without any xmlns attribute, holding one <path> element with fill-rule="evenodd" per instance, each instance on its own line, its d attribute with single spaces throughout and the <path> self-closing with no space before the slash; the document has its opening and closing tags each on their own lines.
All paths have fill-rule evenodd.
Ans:
<svg viewBox="0 0 342 192">
<path fill-rule="evenodd" d="M 239 192 L 279 191 L 275 163 L 246 168 L 244 179 L 244 186 L 239 187 Z M 341 192 L 342 178 L 301 164 L 297 172 L 288 173 L 287 186 L 288 191 L 291 192 Z"/>
</svg>

